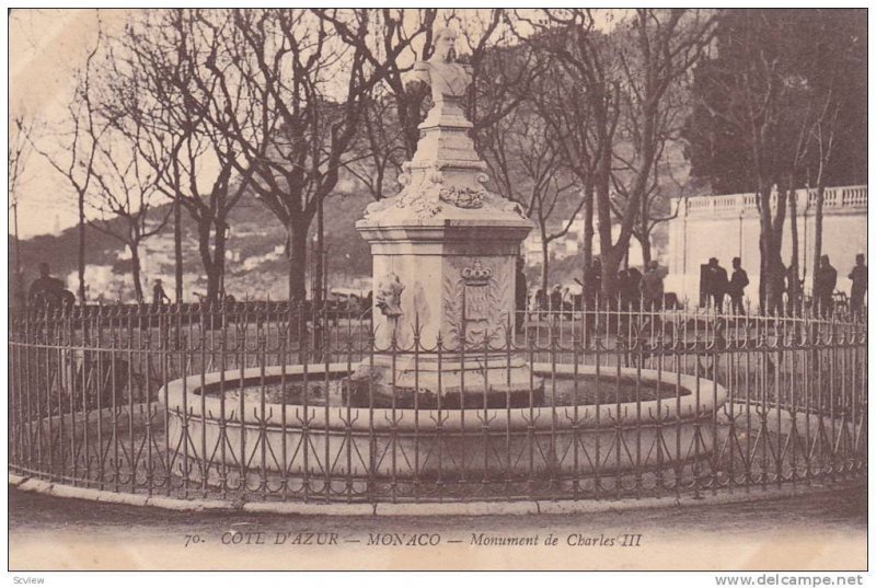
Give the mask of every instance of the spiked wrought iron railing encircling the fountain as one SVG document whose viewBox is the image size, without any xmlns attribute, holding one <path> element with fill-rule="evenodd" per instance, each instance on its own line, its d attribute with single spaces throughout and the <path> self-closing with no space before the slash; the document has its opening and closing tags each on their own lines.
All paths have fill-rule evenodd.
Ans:
<svg viewBox="0 0 876 588">
<path fill-rule="evenodd" d="M 600 499 L 866 472 L 866 325 L 633 308 L 503 336 L 358 310 L 13 315 L 10 472 L 181 498 Z"/>
</svg>

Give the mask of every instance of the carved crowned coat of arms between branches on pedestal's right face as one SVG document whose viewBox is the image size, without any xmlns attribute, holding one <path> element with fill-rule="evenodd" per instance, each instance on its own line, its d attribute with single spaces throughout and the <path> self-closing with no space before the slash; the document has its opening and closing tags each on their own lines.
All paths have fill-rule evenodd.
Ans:
<svg viewBox="0 0 876 588">
<path fill-rule="evenodd" d="M 488 267 L 481 260 L 464 257 L 449 263 L 443 283 L 446 345 L 457 347 L 464 336 L 465 345 L 488 341 L 502 346 L 512 303 L 509 264 Z"/>
</svg>

